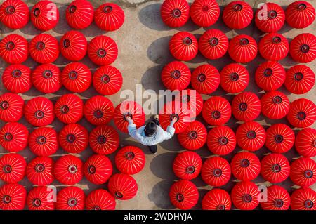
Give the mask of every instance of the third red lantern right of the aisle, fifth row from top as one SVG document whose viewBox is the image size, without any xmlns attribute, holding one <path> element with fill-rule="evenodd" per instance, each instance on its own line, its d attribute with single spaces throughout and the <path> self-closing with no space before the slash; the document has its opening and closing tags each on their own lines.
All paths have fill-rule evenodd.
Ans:
<svg viewBox="0 0 316 224">
<path fill-rule="evenodd" d="M 265 129 L 256 121 L 248 121 L 238 126 L 236 139 L 243 150 L 259 150 L 265 144 Z"/>
</svg>

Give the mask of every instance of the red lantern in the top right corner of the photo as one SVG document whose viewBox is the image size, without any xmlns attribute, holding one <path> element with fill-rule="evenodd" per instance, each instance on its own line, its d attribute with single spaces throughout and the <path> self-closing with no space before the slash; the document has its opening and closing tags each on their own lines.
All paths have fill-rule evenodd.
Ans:
<svg viewBox="0 0 316 224">
<path fill-rule="evenodd" d="M 308 1 L 294 1 L 285 11 L 287 23 L 296 29 L 303 29 L 315 20 L 315 8 Z"/>
</svg>

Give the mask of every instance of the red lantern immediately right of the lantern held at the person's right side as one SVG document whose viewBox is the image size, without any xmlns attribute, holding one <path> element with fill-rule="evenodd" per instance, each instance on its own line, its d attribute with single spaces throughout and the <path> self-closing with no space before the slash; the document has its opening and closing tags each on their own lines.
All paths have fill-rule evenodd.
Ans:
<svg viewBox="0 0 316 224">
<path fill-rule="evenodd" d="M 210 125 L 223 125 L 227 123 L 232 116 L 230 103 L 221 96 L 211 96 L 211 98 L 204 103 L 202 116 Z"/>
</svg>

